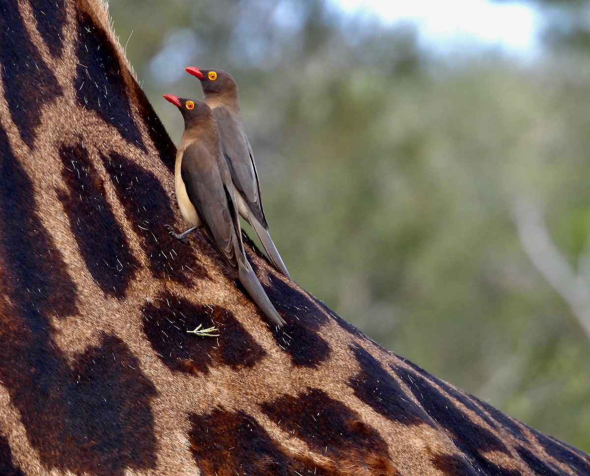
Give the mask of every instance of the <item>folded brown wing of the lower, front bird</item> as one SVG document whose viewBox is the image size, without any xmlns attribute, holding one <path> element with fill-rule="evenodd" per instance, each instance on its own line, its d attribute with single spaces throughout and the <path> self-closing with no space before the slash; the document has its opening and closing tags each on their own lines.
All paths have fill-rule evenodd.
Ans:
<svg viewBox="0 0 590 476">
<path fill-rule="evenodd" d="M 195 207 L 205 231 L 238 273 L 238 254 L 244 255 L 240 222 L 231 184 L 224 183 L 215 157 L 198 143 L 184 150 L 181 176 L 186 194 Z"/>
</svg>

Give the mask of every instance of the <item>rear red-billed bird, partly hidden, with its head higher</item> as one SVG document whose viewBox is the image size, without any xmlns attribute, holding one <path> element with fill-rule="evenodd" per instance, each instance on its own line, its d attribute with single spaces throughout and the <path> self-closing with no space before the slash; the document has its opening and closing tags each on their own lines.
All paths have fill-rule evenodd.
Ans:
<svg viewBox="0 0 590 476">
<path fill-rule="evenodd" d="M 238 87 L 234 78 L 221 70 L 199 70 L 194 66 L 185 71 L 201 81 L 204 101 L 217 120 L 219 141 L 234 183 L 234 194 L 240 215 L 250 223 L 272 265 L 291 280 L 277 247 L 268 233 L 260 197 L 260 182 L 254 154 L 244 130 L 238 104 Z"/>
</svg>

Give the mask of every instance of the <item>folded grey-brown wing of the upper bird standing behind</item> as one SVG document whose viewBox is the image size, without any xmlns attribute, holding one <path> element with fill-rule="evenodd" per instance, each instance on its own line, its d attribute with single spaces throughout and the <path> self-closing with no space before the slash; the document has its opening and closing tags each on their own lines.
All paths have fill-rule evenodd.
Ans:
<svg viewBox="0 0 590 476">
<path fill-rule="evenodd" d="M 225 106 L 215 107 L 212 111 L 217 121 L 219 142 L 235 188 L 244 198 L 254 217 L 267 229 L 268 224 L 260 198 L 258 173 L 241 118 Z"/>
</svg>

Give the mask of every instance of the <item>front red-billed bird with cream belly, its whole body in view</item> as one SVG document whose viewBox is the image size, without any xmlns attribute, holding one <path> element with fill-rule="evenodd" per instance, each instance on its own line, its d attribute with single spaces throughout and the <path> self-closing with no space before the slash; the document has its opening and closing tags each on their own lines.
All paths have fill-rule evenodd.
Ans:
<svg viewBox="0 0 590 476">
<path fill-rule="evenodd" d="M 180 234 L 169 225 L 166 228 L 181 240 L 202 228 L 258 308 L 277 326 L 283 326 L 285 321 L 268 299 L 244 252 L 230 170 L 219 145 L 211 108 L 202 101 L 174 94 L 163 97 L 176 105 L 184 118 L 185 128 L 176 151 L 174 184 L 178 207 L 191 225 Z"/>
</svg>

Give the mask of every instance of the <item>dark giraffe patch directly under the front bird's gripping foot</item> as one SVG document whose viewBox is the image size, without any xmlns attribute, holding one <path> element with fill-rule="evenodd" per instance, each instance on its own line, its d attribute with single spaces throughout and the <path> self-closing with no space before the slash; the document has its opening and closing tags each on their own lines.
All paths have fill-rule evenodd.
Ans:
<svg viewBox="0 0 590 476">
<path fill-rule="evenodd" d="M 210 278 L 207 269 L 197 262 L 192 246 L 173 239 L 164 228 L 174 223 L 170 196 L 150 171 L 126 157 L 110 153 L 100 156 L 109 173 L 115 193 L 139 244 L 149 257 L 149 270 L 156 279 L 172 279 L 189 285 L 194 278 Z"/>
</svg>

